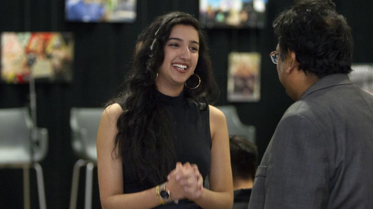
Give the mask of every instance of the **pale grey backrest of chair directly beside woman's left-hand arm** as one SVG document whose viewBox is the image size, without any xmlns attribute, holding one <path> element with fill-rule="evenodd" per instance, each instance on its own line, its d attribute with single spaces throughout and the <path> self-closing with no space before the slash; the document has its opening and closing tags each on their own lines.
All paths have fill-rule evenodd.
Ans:
<svg viewBox="0 0 373 209">
<path fill-rule="evenodd" d="M 70 111 L 72 147 L 80 158 L 97 160 L 96 137 L 103 111 L 100 107 L 73 107 Z"/>
</svg>

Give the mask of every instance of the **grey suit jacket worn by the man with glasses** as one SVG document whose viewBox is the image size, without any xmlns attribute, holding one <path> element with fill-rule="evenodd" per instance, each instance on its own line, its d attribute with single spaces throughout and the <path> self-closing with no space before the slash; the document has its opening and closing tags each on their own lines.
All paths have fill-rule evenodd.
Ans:
<svg viewBox="0 0 373 209">
<path fill-rule="evenodd" d="M 248 208 L 373 208 L 373 96 L 328 75 L 284 113 Z"/>
</svg>

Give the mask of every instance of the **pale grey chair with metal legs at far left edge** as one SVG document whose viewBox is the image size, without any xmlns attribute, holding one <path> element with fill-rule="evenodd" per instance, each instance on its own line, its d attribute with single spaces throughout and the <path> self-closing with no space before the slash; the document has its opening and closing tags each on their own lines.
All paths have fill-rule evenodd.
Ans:
<svg viewBox="0 0 373 209">
<path fill-rule="evenodd" d="M 0 109 L 0 168 L 23 168 L 23 205 L 30 208 L 29 168 L 34 167 L 39 206 L 45 209 L 43 170 L 38 162 L 48 150 L 48 130 L 33 128 L 28 108 Z M 32 130 L 35 137 L 31 137 Z"/>
</svg>

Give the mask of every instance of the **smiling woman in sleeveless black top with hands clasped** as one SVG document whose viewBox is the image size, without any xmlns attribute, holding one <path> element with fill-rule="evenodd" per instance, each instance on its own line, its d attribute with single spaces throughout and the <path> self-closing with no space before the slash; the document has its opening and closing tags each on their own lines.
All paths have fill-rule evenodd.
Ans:
<svg viewBox="0 0 373 209">
<path fill-rule="evenodd" d="M 217 86 L 198 20 L 168 13 L 138 41 L 126 89 L 98 128 L 102 207 L 231 208 L 228 129 L 209 105 Z"/>
</svg>

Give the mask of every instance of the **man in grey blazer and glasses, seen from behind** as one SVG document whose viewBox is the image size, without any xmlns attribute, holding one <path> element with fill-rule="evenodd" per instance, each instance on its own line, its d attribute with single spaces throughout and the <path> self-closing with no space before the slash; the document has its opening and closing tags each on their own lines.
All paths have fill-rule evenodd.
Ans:
<svg viewBox="0 0 373 209">
<path fill-rule="evenodd" d="M 373 96 L 351 83 L 353 41 L 330 0 L 273 22 L 279 80 L 295 101 L 258 167 L 249 207 L 373 208 Z"/>
</svg>

